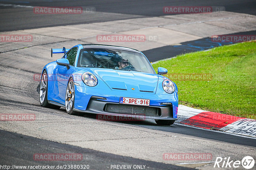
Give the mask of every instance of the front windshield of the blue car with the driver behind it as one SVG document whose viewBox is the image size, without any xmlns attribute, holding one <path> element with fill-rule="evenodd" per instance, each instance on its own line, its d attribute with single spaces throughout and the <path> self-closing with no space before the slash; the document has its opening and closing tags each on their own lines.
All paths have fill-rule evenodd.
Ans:
<svg viewBox="0 0 256 170">
<path fill-rule="evenodd" d="M 80 50 L 77 67 L 108 68 L 155 74 L 144 55 L 106 48 L 84 48 Z"/>
</svg>

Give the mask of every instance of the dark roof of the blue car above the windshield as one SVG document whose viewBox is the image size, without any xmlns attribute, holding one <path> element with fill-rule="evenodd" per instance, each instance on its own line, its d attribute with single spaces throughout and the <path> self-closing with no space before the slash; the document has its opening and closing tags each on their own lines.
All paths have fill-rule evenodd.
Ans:
<svg viewBox="0 0 256 170">
<path fill-rule="evenodd" d="M 135 53 L 141 53 L 139 50 L 124 47 L 124 46 L 112 46 L 112 45 L 104 45 L 104 44 L 81 44 L 81 45 L 84 48 L 108 48 L 108 49 L 125 50 L 125 51 L 131 51 Z"/>
</svg>

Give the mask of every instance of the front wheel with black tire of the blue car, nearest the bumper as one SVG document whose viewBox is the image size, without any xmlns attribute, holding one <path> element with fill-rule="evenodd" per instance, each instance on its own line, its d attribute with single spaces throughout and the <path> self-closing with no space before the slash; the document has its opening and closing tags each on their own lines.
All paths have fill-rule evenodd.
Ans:
<svg viewBox="0 0 256 170">
<path fill-rule="evenodd" d="M 68 85 L 66 89 L 65 108 L 67 113 L 70 115 L 84 116 L 84 113 L 74 111 L 74 103 L 75 103 L 75 84 L 74 84 L 73 78 L 71 77 L 68 80 Z"/>
</svg>

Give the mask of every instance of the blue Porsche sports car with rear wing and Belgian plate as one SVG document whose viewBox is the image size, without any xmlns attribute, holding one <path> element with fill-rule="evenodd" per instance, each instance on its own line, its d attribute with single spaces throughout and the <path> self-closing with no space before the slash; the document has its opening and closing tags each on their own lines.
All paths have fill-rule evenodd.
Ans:
<svg viewBox="0 0 256 170">
<path fill-rule="evenodd" d="M 67 52 L 66 52 L 67 51 Z M 79 44 L 46 64 L 40 81 L 40 104 L 68 114 L 94 113 L 155 119 L 171 125 L 177 120 L 178 89 L 164 77 L 167 69 L 154 71 L 138 50 L 100 44 Z"/>
</svg>

